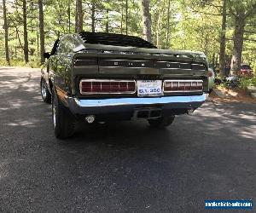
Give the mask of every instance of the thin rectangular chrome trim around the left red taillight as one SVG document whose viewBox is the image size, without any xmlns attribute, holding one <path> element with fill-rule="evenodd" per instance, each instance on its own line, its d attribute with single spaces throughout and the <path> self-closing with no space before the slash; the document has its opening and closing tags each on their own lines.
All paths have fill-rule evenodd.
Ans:
<svg viewBox="0 0 256 213">
<path fill-rule="evenodd" d="M 112 93 L 108 93 L 108 92 L 83 92 L 82 91 L 82 83 L 83 82 L 127 82 L 127 83 L 134 83 L 134 91 L 132 92 L 112 92 Z M 101 85 L 102 86 L 102 85 Z M 137 88 L 137 83 L 135 80 L 120 80 L 120 79 L 82 79 L 80 80 L 80 83 L 79 83 L 79 90 L 80 90 L 80 94 L 82 95 L 97 95 L 97 94 L 113 94 L 113 95 L 121 95 L 121 94 L 135 94 L 136 93 L 136 88 Z"/>
</svg>

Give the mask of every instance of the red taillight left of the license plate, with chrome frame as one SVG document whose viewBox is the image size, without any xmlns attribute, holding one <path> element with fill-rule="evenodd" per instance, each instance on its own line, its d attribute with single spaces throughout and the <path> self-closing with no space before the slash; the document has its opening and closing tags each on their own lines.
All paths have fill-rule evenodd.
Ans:
<svg viewBox="0 0 256 213">
<path fill-rule="evenodd" d="M 134 94 L 135 81 L 83 79 L 80 81 L 81 94 Z"/>
</svg>

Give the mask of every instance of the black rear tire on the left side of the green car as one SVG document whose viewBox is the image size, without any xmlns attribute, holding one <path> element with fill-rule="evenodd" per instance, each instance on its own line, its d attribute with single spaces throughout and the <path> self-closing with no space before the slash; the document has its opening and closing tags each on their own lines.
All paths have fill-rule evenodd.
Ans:
<svg viewBox="0 0 256 213">
<path fill-rule="evenodd" d="M 58 139 L 66 139 L 74 133 L 75 118 L 73 114 L 64 107 L 56 95 L 55 89 L 52 93 L 51 101 L 52 122 L 55 131 L 55 137 Z"/>
</svg>

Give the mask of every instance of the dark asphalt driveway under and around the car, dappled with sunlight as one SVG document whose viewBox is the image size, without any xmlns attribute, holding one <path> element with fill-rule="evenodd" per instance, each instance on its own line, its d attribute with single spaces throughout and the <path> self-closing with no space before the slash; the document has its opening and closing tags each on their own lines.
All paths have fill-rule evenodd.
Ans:
<svg viewBox="0 0 256 213">
<path fill-rule="evenodd" d="M 84 124 L 59 141 L 39 72 L 10 71 L 0 69 L 1 211 L 204 212 L 204 199 L 256 197 L 255 104 L 207 102 L 166 130 Z"/>
</svg>

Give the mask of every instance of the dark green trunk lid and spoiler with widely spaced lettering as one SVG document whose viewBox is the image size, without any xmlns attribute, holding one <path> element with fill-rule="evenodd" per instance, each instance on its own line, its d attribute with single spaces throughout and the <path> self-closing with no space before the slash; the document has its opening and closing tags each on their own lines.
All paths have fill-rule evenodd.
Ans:
<svg viewBox="0 0 256 213">
<path fill-rule="evenodd" d="M 101 75 L 207 76 L 205 55 L 191 51 L 86 44 L 74 55 L 75 70 Z M 80 73 L 80 72 L 79 72 Z"/>
</svg>

